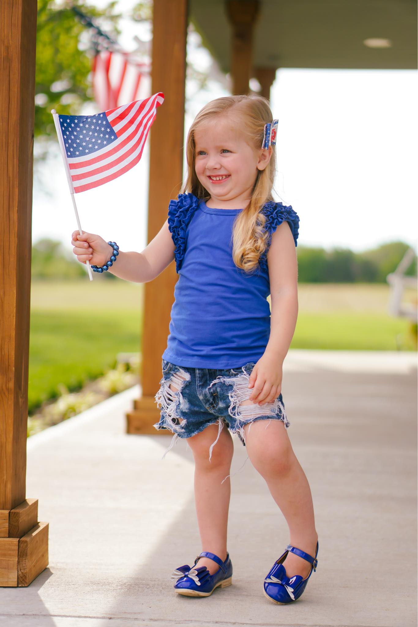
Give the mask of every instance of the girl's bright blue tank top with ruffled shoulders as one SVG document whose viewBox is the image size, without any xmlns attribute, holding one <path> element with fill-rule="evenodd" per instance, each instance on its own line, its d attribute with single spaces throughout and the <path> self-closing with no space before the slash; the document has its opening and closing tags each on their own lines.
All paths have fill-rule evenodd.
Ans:
<svg viewBox="0 0 418 627">
<path fill-rule="evenodd" d="M 270 334 L 271 235 L 286 220 L 297 246 L 299 218 L 291 206 L 264 204 L 268 248 L 259 268 L 247 273 L 234 264 L 232 255 L 233 223 L 241 211 L 209 208 L 193 194 L 179 194 L 169 203 L 179 279 L 162 358 L 172 364 L 238 368 L 263 356 Z"/>
</svg>

